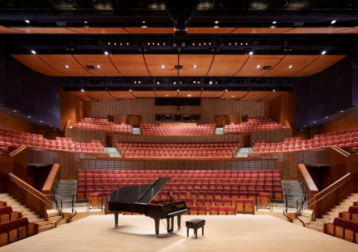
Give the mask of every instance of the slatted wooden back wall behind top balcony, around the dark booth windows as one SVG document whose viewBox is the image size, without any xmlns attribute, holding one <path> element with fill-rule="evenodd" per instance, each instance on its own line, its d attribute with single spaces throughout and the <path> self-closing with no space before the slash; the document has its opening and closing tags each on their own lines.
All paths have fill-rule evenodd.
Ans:
<svg viewBox="0 0 358 252">
<path fill-rule="evenodd" d="M 137 100 L 99 101 L 89 103 L 91 114 L 88 117 L 107 118 L 107 114 L 127 115 L 136 114 L 142 118 L 142 123 L 159 123 L 155 121 L 155 114 L 201 114 L 200 124 L 214 123 L 215 115 L 245 115 L 249 118 L 263 117 L 264 102 L 235 101 L 218 99 L 201 99 L 201 106 L 184 106 L 180 111 L 175 106 L 154 106 L 154 99 L 143 98 Z M 113 113 L 110 113 L 113 112 Z"/>
</svg>

